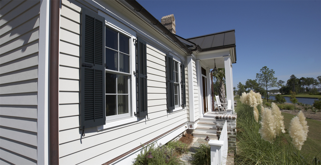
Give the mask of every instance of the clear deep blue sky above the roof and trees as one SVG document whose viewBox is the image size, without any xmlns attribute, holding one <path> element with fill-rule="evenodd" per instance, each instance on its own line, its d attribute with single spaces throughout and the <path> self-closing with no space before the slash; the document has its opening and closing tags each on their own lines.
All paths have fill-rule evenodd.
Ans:
<svg viewBox="0 0 321 165">
<path fill-rule="evenodd" d="M 321 0 L 137 2 L 159 20 L 174 14 L 176 34 L 181 37 L 235 29 L 234 87 L 255 79 L 264 66 L 285 82 L 292 74 L 321 76 Z"/>
</svg>

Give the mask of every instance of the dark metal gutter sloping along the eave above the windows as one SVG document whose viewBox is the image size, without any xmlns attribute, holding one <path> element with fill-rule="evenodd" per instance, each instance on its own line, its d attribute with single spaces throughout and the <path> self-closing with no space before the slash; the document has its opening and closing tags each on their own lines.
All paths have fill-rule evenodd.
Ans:
<svg viewBox="0 0 321 165">
<path fill-rule="evenodd" d="M 193 52 L 189 50 L 173 33 L 171 33 L 163 24 L 161 24 L 151 13 L 149 13 L 142 5 L 140 5 L 135 0 L 125 0 L 129 5 L 134 7 L 134 10 L 141 13 L 145 18 L 147 18 L 153 25 L 160 29 L 165 35 L 177 43 L 182 49 L 184 49 L 188 54 Z"/>
</svg>

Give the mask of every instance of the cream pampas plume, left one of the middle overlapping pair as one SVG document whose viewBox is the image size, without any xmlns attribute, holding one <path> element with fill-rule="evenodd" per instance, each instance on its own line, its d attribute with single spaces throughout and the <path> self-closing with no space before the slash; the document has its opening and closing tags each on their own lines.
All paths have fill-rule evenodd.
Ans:
<svg viewBox="0 0 321 165">
<path fill-rule="evenodd" d="M 272 111 L 268 108 L 262 107 L 261 109 L 261 125 L 262 127 L 259 129 L 259 133 L 261 134 L 261 137 L 272 143 L 273 138 L 275 137 L 275 130 L 274 130 L 274 120 L 272 116 Z"/>
</svg>

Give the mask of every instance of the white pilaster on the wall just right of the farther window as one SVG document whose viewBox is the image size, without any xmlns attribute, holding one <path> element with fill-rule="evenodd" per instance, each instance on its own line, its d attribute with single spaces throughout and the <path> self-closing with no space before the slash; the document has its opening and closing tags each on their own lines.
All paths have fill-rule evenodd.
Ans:
<svg viewBox="0 0 321 165">
<path fill-rule="evenodd" d="M 193 86 L 193 56 L 187 56 L 187 79 L 188 79 L 188 108 L 189 121 L 195 121 L 194 115 L 194 86 Z"/>
</svg>

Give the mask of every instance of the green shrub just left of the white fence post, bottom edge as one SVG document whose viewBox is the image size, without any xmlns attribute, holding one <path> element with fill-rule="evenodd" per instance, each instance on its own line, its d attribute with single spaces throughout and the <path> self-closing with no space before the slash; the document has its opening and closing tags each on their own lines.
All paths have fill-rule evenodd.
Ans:
<svg viewBox="0 0 321 165">
<path fill-rule="evenodd" d="M 211 146 L 201 144 L 199 149 L 196 149 L 195 154 L 192 154 L 192 165 L 210 165 L 211 164 Z"/>
</svg>

